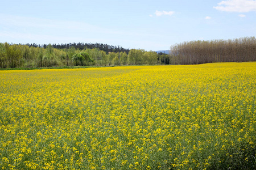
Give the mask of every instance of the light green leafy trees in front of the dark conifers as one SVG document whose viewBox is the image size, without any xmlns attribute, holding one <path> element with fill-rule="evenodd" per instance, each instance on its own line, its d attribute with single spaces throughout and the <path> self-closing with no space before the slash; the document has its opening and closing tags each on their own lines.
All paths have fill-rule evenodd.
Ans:
<svg viewBox="0 0 256 170">
<path fill-rule="evenodd" d="M 167 64 L 168 54 L 131 49 L 129 53 L 108 52 L 99 48 L 46 48 L 36 45 L 0 43 L 0 68 L 56 66 L 113 66 Z"/>
</svg>

